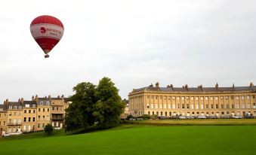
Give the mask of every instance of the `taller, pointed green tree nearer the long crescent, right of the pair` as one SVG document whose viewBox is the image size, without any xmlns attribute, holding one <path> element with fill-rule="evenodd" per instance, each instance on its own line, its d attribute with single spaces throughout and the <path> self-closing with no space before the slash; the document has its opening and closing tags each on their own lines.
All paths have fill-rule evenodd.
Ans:
<svg viewBox="0 0 256 155">
<path fill-rule="evenodd" d="M 104 77 L 100 80 L 96 88 L 96 97 L 97 103 L 93 114 L 97 121 L 97 127 L 107 129 L 117 126 L 125 104 L 119 96 L 119 90 L 110 78 Z"/>
</svg>

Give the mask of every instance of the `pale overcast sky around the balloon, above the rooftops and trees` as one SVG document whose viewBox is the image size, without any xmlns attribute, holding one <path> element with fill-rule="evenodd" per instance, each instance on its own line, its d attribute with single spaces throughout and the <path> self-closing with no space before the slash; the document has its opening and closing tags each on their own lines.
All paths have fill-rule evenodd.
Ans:
<svg viewBox="0 0 256 155">
<path fill-rule="evenodd" d="M 128 98 L 133 88 L 256 83 L 256 1 L 20 1 L 0 4 L 0 103 L 72 95 L 104 76 Z M 35 17 L 63 22 L 45 59 L 32 38 Z"/>
</svg>

